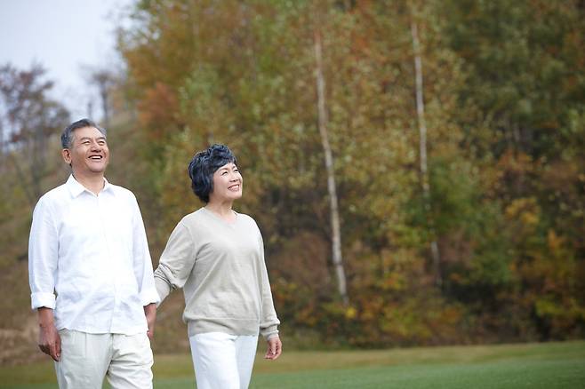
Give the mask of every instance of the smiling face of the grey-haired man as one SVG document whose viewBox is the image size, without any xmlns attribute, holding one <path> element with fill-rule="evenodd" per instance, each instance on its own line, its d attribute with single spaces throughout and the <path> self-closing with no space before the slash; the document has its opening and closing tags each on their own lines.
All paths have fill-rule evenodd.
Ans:
<svg viewBox="0 0 585 389">
<path fill-rule="evenodd" d="M 73 145 L 62 155 L 76 175 L 103 174 L 109 161 L 106 137 L 95 127 L 78 128 L 73 131 Z"/>
</svg>

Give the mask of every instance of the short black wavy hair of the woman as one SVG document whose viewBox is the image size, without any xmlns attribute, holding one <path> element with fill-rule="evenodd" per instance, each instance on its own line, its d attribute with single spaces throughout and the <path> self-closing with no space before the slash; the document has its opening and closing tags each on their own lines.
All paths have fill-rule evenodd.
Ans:
<svg viewBox="0 0 585 389">
<path fill-rule="evenodd" d="M 213 191 L 213 173 L 227 163 L 237 164 L 236 156 L 225 145 L 212 145 L 198 152 L 188 164 L 188 177 L 193 193 L 202 202 L 209 202 Z"/>
</svg>

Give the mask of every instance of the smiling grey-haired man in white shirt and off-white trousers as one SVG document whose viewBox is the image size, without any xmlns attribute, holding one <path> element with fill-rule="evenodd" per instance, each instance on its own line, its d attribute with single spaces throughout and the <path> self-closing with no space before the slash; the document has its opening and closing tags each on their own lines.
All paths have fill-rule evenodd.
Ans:
<svg viewBox="0 0 585 389">
<path fill-rule="evenodd" d="M 90 120 L 61 135 L 67 182 L 44 194 L 28 246 L 39 347 L 60 388 L 151 388 L 156 293 L 136 198 L 104 178 L 105 131 Z"/>
</svg>

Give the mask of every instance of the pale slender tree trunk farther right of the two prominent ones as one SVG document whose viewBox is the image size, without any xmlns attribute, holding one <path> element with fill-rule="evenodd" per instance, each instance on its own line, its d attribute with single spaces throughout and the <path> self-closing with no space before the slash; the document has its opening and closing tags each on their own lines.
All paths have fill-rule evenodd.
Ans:
<svg viewBox="0 0 585 389">
<path fill-rule="evenodd" d="M 427 213 L 427 224 L 431 235 L 430 253 L 433 260 L 433 272 L 435 273 L 435 282 L 437 285 L 443 283 L 441 276 L 441 256 L 437 244 L 437 232 L 435 231 L 435 220 L 433 219 L 430 204 L 430 184 L 429 171 L 427 167 L 427 123 L 425 122 L 424 97 L 422 87 L 422 59 L 421 44 L 419 41 L 419 31 L 416 22 L 411 22 L 411 33 L 413 36 L 413 54 L 414 54 L 414 74 L 416 88 L 416 116 L 419 123 L 419 153 L 421 159 L 421 183 L 424 207 Z"/>
</svg>

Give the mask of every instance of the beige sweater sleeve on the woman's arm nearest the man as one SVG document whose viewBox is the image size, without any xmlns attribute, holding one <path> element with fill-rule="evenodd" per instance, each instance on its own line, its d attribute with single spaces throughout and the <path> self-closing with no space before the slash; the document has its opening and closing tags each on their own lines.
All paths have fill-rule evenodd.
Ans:
<svg viewBox="0 0 585 389">
<path fill-rule="evenodd" d="M 185 285 L 193 266 L 195 266 L 195 244 L 188 228 L 180 222 L 166 242 L 155 270 L 159 305 L 172 290 L 180 289 Z"/>
</svg>

